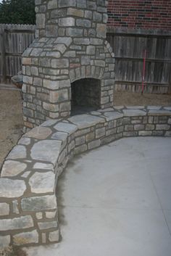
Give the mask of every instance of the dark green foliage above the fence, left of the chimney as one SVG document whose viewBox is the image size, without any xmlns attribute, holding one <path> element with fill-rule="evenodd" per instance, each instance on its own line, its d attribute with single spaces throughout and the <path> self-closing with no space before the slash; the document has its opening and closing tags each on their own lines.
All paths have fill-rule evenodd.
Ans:
<svg viewBox="0 0 171 256">
<path fill-rule="evenodd" d="M 35 24 L 35 0 L 3 0 L 0 4 L 0 23 Z"/>
</svg>

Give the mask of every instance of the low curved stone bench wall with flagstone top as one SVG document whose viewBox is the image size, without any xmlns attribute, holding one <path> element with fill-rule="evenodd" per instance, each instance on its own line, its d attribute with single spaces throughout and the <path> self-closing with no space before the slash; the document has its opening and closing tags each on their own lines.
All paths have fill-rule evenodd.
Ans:
<svg viewBox="0 0 171 256">
<path fill-rule="evenodd" d="M 59 174 L 74 154 L 128 136 L 171 136 L 171 107 L 115 107 L 47 120 L 22 136 L 1 168 L 0 247 L 59 241 Z"/>
</svg>

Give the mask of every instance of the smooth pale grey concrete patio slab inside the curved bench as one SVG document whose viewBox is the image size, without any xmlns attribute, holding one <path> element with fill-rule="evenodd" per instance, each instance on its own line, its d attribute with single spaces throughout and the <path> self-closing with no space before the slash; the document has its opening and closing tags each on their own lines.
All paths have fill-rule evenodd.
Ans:
<svg viewBox="0 0 171 256">
<path fill-rule="evenodd" d="M 62 241 L 28 256 L 170 256 L 170 152 L 170 138 L 129 138 L 75 157 L 57 189 Z"/>
</svg>

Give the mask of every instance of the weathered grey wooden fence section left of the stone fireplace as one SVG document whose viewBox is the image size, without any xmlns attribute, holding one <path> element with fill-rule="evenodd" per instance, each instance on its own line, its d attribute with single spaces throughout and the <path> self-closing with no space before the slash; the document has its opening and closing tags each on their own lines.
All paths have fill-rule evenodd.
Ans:
<svg viewBox="0 0 171 256">
<path fill-rule="evenodd" d="M 21 70 L 22 52 L 34 39 L 35 25 L 0 24 L 0 83 L 11 83 Z"/>
</svg>

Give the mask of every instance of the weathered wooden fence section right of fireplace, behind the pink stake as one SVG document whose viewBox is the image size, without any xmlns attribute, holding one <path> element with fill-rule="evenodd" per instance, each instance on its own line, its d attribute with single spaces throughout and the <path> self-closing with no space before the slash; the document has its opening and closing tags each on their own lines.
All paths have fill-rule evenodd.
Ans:
<svg viewBox="0 0 171 256">
<path fill-rule="evenodd" d="M 144 91 L 171 93 L 171 32 L 108 28 L 115 54 L 115 91 L 141 91 L 146 50 Z"/>
</svg>

